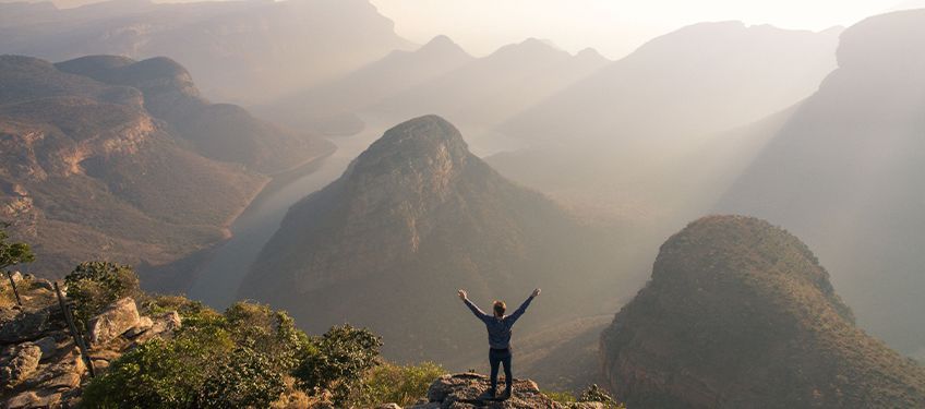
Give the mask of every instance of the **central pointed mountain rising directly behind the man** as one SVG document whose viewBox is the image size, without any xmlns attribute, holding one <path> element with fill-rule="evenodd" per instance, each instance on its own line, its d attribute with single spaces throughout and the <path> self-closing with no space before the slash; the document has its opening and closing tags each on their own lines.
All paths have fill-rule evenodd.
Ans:
<svg viewBox="0 0 925 409">
<path fill-rule="evenodd" d="M 612 299 L 602 284 L 617 279 L 614 236 L 503 179 L 452 124 L 429 116 L 387 131 L 340 179 L 290 208 L 240 296 L 284 308 L 310 329 L 369 326 L 393 359 L 461 365 L 483 354 L 485 335 L 456 289 L 516 308 L 542 287 L 518 323 L 525 333 L 612 308 L 600 300 Z"/>
</svg>

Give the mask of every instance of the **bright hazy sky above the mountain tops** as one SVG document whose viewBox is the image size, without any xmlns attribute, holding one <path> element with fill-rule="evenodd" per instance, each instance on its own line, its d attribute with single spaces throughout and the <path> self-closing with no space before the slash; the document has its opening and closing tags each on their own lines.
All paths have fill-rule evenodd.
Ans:
<svg viewBox="0 0 925 409">
<path fill-rule="evenodd" d="M 371 0 L 399 35 L 425 43 L 446 34 L 485 55 L 526 37 L 578 51 L 593 47 L 618 58 L 684 25 L 740 20 L 820 31 L 851 25 L 900 0 Z M 925 0 L 912 0 L 923 3 Z"/>
</svg>

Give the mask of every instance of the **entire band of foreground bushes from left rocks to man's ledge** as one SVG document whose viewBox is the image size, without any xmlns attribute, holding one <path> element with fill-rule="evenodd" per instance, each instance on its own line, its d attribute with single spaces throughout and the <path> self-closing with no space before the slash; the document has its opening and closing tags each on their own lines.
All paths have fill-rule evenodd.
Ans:
<svg viewBox="0 0 925 409">
<path fill-rule="evenodd" d="M 92 408 L 307 408 L 407 405 L 444 373 L 380 357 L 382 339 L 350 325 L 309 336 L 283 311 L 239 302 L 218 313 L 183 297 L 148 296 L 127 266 L 84 263 L 67 277 L 77 316 L 137 297 L 147 315 L 177 311 L 183 325 L 113 361 L 89 382 Z M 92 294 L 92 296 L 91 296 Z"/>
</svg>

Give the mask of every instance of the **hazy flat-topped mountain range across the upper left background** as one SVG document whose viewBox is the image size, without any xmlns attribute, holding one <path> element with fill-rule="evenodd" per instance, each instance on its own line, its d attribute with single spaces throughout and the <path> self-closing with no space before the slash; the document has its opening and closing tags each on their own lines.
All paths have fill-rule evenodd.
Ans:
<svg viewBox="0 0 925 409">
<path fill-rule="evenodd" d="M 0 52 L 167 56 L 206 95 L 236 101 L 268 100 L 410 46 L 365 0 L 0 4 L 0 15 L 8 12 L 15 19 L 0 17 Z"/>
</svg>

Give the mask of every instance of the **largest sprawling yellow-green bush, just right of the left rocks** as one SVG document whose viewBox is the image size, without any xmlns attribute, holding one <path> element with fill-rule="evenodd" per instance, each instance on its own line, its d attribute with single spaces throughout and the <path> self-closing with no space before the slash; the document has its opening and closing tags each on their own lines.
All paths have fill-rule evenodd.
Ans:
<svg viewBox="0 0 925 409">
<path fill-rule="evenodd" d="M 94 378 L 91 408 L 266 408 L 284 393 L 285 376 L 309 337 L 285 313 L 239 303 L 226 314 L 182 298 L 146 300 L 143 309 L 177 308 L 183 326 L 172 340 L 154 339 Z M 176 311 L 176 310 L 173 310 Z M 283 358 L 280 358 L 283 357 Z M 290 357 L 290 358 L 286 358 Z"/>
</svg>

